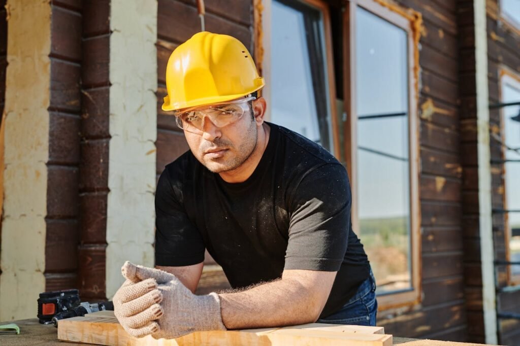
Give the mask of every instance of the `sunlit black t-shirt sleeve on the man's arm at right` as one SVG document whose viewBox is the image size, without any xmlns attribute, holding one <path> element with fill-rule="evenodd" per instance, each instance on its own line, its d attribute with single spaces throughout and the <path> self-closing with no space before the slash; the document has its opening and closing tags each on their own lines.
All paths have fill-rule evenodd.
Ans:
<svg viewBox="0 0 520 346">
<path fill-rule="evenodd" d="M 338 271 L 345 257 L 351 193 L 341 164 L 309 172 L 290 198 L 285 270 Z"/>
</svg>

